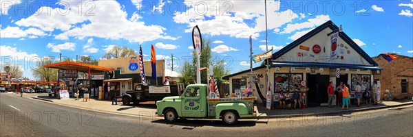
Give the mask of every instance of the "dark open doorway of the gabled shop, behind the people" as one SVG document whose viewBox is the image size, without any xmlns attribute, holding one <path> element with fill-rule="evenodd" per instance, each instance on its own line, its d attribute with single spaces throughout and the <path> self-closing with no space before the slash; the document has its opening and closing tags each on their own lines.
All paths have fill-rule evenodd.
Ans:
<svg viewBox="0 0 413 137">
<path fill-rule="evenodd" d="M 308 106 L 317 107 L 320 103 L 328 101 L 327 86 L 330 80 L 329 75 L 307 74 Z"/>
</svg>

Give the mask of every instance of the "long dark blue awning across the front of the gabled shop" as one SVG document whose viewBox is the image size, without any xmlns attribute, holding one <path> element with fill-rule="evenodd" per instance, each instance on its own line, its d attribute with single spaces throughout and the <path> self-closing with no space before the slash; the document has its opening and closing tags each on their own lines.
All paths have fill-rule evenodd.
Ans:
<svg viewBox="0 0 413 137">
<path fill-rule="evenodd" d="M 333 68 L 333 69 L 367 69 L 367 70 L 383 70 L 377 66 L 361 66 L 356 64 L 330 64 L 330 63 L 315 63 L 315 62 L 273 62 L 273 67 L 313 67 L 313 68 Z"/>
</svg>

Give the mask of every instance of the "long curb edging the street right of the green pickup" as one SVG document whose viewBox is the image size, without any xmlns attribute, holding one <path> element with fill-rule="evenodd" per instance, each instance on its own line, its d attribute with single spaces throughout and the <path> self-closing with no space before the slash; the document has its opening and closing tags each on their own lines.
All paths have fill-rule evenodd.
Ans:
<svg viewBox="0 0 413 137">
<path fill-rule="evenodd" d="M 373 107 L 373 108 L 361 108 L 357 110 L 346 110 L 346 111 L 339 111 L 339 112 L 325 112 L 325 113 L 310 113 L 310 114 L 282 114 L 282 115 L 276 115 L 276 116 L 255 116 L 255 117 L 250 117 L 250 118 L 245 118 L 245 119 L 277 119 L 277 118 L 293 118 L 293 117 L 302 117 L 302 116 L 326 116 L 326 115 L 337 115 L 337 114 L 343 114 L 343 113 L 352 113 L 352 112 L 363 112 L 363 111 L 368 111 L 368 110 L 380 110 L 383 108 L 396 108 L 404 105 L 412 105 L 413 102 L 409 103 L 402 103 L 398 105 L 385 105 L 385 106 L 379 106 L 379 107 Z"/>
</svg>

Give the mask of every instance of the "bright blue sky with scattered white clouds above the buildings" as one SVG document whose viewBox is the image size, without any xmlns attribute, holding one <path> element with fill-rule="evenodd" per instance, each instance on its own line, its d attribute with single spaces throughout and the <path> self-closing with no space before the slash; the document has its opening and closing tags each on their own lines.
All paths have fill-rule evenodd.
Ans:
<svg viewBox="0 0 413 137">
<path fill-rule="evenodd" d="M 194 25 L 231 73 L 249 68 L 249 36 L 254 53 L 265 51 L 264 1 L 12 0 L 1 1 L 0 10 L 1 62 L 13 58 L 31 78 L 30 58 L 59 53 L 100 58 L 113 45 L 137 51 L 142 45 L 146 55 L 155 45 L 157 60 L 173 53 L 179 70 L 191 60 Z M 268 1 L 268 45 L 277 51 L 331 20 L 370 56 L 412 56 L 412 10 L 412 0 Z"/>
</svg>

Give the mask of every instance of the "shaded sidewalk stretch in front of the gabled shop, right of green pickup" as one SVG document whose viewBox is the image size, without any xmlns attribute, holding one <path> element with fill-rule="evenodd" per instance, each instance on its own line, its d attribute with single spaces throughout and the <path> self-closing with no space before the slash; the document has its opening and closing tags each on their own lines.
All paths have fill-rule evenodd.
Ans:
<svg viewBox="0 0 413 137">
<path fill-rule="evenodd" d="M 403 99 L 399 101 L 381 101 L 378 103 L 378 105 L 362 103 L 359 107 L 357 107 L 357 104 L 352 104 L 351 107 L 348 108 L 348 110 L 341 110 L 341 107 L 339 106 L 334 106 L 332 108 L 328 108 L 327 106 L 319 106 L 319 107 L 304 108 L 304 109 L 296 108 L 295 110 L 293 108 L 291 108 L 291 110 L 288 110 L 288 107 L 286 106 L 286 109 L 283 109 L 283 110 L 280 110 L 279 108 L 276 108 L 275 110 L 267 110 L 266 107 L 260 104 L 260 105 L 257 105 L 257 109 L 259 112 L 257 116 L 259 116 L 260 118 L 271 119 L 271 118 L 288 118 L 288 117 L 299 117 L 299 116 L 348 114 L 352 112 L 378 110 L 382 108 L 394 108 L 394 107 L 410 105 L 410 104 L 413 104 L 411 99 Z"/>
</svg>

